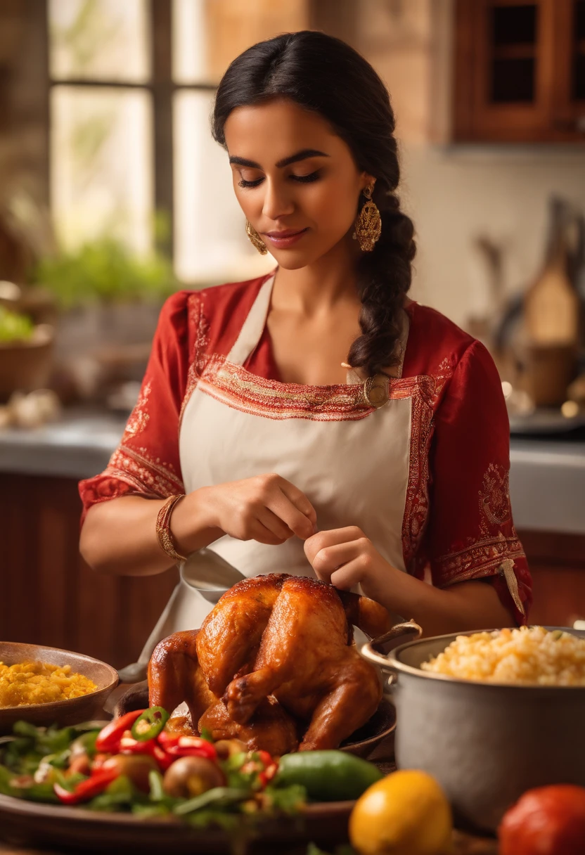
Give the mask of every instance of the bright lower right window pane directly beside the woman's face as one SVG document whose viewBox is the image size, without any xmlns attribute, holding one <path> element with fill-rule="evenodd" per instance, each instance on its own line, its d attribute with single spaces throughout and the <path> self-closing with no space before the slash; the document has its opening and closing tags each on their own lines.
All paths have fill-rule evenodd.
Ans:
<svg viewBox="0 0 585 855">
<path fill-rule="evenodd" d="M 245 280 L 274 267 L 245 236 L 227 153 L 211 137 L 213 96 L 174 96 L 174 266 L 192 283 Z"/>
</svg>

